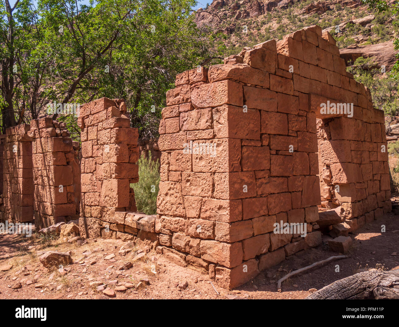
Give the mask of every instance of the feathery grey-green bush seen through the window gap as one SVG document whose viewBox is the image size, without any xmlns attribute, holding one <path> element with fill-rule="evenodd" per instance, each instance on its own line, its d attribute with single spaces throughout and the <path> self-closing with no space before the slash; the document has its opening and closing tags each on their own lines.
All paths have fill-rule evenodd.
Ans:
<svg viewBox="0 0 399 327">
<path fill-rule="evenodd" d="M 138 212 L 156 214 L 156 197 L 159 191 L 160 164 L 151 160 L 151 151 L 148 158 L 141 155 L 138 159 L 138 182 L 130 184 L 134 189 L 134 198 Z"/>
</svg>

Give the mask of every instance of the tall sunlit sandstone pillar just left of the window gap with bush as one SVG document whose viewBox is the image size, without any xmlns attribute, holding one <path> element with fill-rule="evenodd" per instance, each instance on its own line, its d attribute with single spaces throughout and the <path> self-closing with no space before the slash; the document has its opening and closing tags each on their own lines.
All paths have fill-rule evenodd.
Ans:
<svg viewBox="0 0 399 327">
<path fill-rule="evenodd" d="M 86 237 L 125 238 L 124 215 L 136 211 L 131 183 L 138 181 L 138 130 L 123 100 L 98 99 L 80 109 L 81 210 Z M 123 212 L 120 218 L 115 212 Z"/>
</svg>

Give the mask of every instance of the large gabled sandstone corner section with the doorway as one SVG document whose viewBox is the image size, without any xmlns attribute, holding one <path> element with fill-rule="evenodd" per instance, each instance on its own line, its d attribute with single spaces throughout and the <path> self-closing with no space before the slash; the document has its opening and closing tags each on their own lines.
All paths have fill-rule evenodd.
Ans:
<svg viewBox="0 0 399 327">
<path fill-rule="evenodd" d="M 231 288 L 320 244 L 319 208 L 341 206 L 352 230 L 391 209 L 383 112 L 319 26 L 175 85 L 159 128 L 155 227 L 171 260 Z M 353 117 L 324 115 L 327 101 L 353 104 Z M 306 223 L 306 237 L 275 233 L 276 222 Z"/>
</svg>

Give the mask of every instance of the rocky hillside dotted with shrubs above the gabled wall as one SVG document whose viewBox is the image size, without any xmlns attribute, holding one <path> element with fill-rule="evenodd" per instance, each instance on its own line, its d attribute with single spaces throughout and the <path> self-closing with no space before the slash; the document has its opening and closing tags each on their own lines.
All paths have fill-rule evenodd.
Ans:
<svg viewBox="0 0 399 327">
<path fill-rule="evenodd" d="M 334 36 L 347 61 L 373 57 L 387 70 L 395 63 L 392 40 L 399 32 L 392 17 L 372 12 L 361 0 L 214 0 L 197 10 L 196 23 L 220 32 L 225 55 L 318 24 Z"/>
</svg>

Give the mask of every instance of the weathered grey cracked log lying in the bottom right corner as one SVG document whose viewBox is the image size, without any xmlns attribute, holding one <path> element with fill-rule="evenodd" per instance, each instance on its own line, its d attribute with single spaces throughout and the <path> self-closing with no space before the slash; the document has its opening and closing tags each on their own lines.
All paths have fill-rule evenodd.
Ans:
<svg viewBox="0 0 399 327">
<path fill-rule="evenodd" d="M 368 270 L 334 281 L 306 299 L 399 299 L 399 270 Z"/>
</svg>

